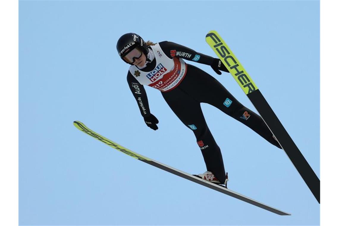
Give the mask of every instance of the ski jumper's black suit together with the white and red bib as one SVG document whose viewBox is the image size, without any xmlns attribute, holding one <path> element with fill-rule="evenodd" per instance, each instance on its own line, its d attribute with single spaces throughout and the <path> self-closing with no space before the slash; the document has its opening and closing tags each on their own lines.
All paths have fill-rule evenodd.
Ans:
<svg viewBox="0 0 339 226">
<path fill-rule="evenodd" d="M 200 103 L 215 106 L 281 148 L 259 115 L 244 107 L 214 77 L 183 61 L 185 59 L 211 65 L 213 57 L 167 41 L 148 48 L 149 52 L 154 54 L 152 62 L 142 69 L 133 65 L 127 74 L 129 88 L 138 103 L 141 115 L 151 115 L 143 85 L 159 89 L 176 116 L 193 131 L 207 171 L 213 172 L 220 182 L 226 179 L 221 151 L 208 129 Z"/>
</svg>

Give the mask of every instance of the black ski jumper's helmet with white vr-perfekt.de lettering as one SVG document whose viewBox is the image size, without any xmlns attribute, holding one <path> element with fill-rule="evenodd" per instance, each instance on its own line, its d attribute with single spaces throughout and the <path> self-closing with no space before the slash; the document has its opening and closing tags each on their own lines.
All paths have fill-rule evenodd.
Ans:
<svg viewBox="0 0 339 226">
<path fill-rule="evenodd" d="M 145 43 L 145 41 L 137 34 L 135 33 L 127 33 L 122 35 L 118 42 L 117 42 L 117 50 L 120 55 L 120 58 L 125 61 L 128 64 L 129 63 L 124 59 L 124 56 L 126 56 L 129 52 L 131 52 L 134 48 L 140 49 L 147 57 L 148 54 L 148 48 Z"/>
</svg>

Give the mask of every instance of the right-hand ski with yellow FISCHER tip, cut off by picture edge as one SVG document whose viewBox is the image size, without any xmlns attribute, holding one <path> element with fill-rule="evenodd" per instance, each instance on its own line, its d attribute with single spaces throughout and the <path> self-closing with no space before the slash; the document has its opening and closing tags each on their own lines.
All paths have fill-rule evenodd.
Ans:
<svg viewBox="0 0 339 226">
<path fill-rule="evenodd" d="M 239 60 L 235 57 L 231 49 L 226 45 L 225 41 L 215 30 L 208 32 L 206 35 L 206 42 L 211 46 L 223 64 L 230 71 L 233 78 L 245 92 L 247 97 L 251 100 L 268 128 L 278 140 L 280 146 L 286 152 L 288 158 L 290 158 L 293 165 L 298 170 L 300 176 L 303 178 L 308 188 L 310 188 L 314 197 L 320 203 L 319 178 L 308 164 L 296 144 L 293 142 L 290 135 L 288 135 L 274 111 L 267 103 L 260 90 L 243 68 Z"/>
</svg>

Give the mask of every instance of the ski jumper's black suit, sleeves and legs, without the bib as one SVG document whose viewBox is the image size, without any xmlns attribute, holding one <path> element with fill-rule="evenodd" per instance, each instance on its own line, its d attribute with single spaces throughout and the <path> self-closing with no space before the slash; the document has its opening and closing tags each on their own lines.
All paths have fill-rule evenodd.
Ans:
<svg viewBox="0 0 339 226">
<path fill-rule="evenodd" d="M 194 50 L 173 42 L 159 42 L 159 45 L 167 57 L 171 56 L 171 50 L 186 53 L 180 58 L 192 61 L 194 56 L 199 55 L 198 63 L 212 65 L 216 60 L 212 57 L 197 53 Z M 172 52 L 173 53 L 173 52 Z M 219 62 L 220 65 L 221 61 Z M 223 66 L 223 65 L 222 65 Z M 156 67 L 156 60 L 148 63 L 141 71 L 150 71 Z M 228 71 L 224 68 L 224 71 Z M 151 115 L 145 89 L 136 78 L 128 71 L 127 82 L 140 108 L 141 115 Z M 136 91 L 137 90 L 137 91 Z M 261 137 L 273 145 L 280 147 L 274 140 L 262 118 L 255 112 L 244 107 L 238 102 L 227 89 L 214 77 L 196 66 L 187 64 L 186 76 L 174 89 L 161 92 L 163 98 L 188 128 L 192 129 L 201 149 L 206 168 L 214 173 L 217 179 L 223 183 L 226 179 L 224 163 L 221 151 L 215 142 L 210 129 L 204 119 L 200 103 L 208 103 L 223 111 L 225 114 L 250 127 Z"/>
</svg>

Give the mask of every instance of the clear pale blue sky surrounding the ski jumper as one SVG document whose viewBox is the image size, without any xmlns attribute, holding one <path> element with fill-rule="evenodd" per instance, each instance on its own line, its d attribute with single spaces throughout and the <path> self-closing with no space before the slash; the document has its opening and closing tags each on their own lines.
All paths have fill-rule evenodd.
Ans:
<svg viewBox="0 0 339 226">
<path fill-rule="evenodd" d="M 319 204 L 284 151 L 202 104 L 228 187 L 279 216 L 118 152 L 73 126 L 188 173 L 205 164 L 193 132 L 146 87 L 149 129 L 116 41 L 135 32 L 216 57 L 215 29 L 319 177 L 319 1 L 20 1 L 20 225 L 318 225 Z M 186 61 L 187 62 L 187 61 Z M 189 62 L 253 105 L 232 76 Z"/>
</svg>

